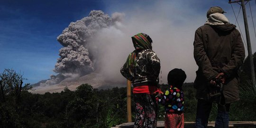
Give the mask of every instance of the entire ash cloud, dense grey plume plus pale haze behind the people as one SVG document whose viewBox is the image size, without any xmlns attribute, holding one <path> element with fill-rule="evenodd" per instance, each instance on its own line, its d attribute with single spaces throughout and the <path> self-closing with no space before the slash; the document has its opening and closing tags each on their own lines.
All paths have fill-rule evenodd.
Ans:
<svg viewBox="0 0 256 128">
<path fill-rule="evenodd" d="M 165 9 L 162 5 L 158 6 Z M 173 68 L 182 68 L 188 76 L 192 76 L 186 81 L 192 82 L 197 68 L 192 56 L 192 41 L 194 30 L 200 25 L 195 21 L 182 26 L 180 21 L 184 17 L 193 17 L 185 12 L 178 21 L 169 20 L 161 12 L 163 10 L 147 13 L 142 10 L 129 11 L 128 16 L 132 17 L 124 20 L 124 13 L 115 12 L 110 17 L 102 11 L 92 10 L 88 17 L 71 22 L 57 37 L 64 46 L 59 50 L 60 58 L 54 69 L 59 74 L 53 78 L 58 80 L 51 79 L 46 83 L 58 84 L 66 78 L 92 72 L 103 75 L 110 82 L 126 82 L 119 70 L 128 54 L 134 50 L 131 37 L 140 32 L 150 35 L 153 40 L 153 50 L 161 61 L 163 83 L 167 83 L 166 76 Z M 176 19 L 175 16 L 173 19 Z M 187 62 L 192 64 L 187 65 Z"/>
</svg>

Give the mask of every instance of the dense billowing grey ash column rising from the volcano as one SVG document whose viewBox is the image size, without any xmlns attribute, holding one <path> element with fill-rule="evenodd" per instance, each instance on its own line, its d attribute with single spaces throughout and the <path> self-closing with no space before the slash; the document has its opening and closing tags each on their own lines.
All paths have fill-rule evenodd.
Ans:
<svg viewBox="0 0 256 128">
<path fill-rule="evenodd" d="M 55 64 L 55 73 L 88 74 L 94 71 L 93 55 L 89 53 L 88 40 L 97 30 L 109 27 L 112 23 L 109 15 L 92 10 L 89 17 L 71 22 L 57 37 L 63 48 L 59 50 L 60 58 Z"/>
</svg>

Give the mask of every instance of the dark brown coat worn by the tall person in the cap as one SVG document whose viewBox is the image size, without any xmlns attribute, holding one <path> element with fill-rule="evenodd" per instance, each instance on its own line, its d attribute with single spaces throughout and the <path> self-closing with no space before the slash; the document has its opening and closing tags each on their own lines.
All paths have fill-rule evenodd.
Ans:
<svg viewBox="0 0 256 128">
<path fill-rule="evenodd" d="M 239 100 L 238 68 L 245 58 L 239 31 L 233 24 L 203 25 L 195 32 L 194 59 L 198 65 L 194 88 L 197 98 L 209 100 L 209 82 L 224 73 L 223 95 L 226 103 Z"/>
</svg>

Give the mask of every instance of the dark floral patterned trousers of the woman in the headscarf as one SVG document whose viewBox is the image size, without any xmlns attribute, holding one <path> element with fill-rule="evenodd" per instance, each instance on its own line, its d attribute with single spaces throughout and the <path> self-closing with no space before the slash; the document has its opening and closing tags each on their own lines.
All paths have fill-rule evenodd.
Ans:
<svg viewBox="0 0 256 128">
<path fill-rule="evenodd" d="M 134 93 L 136 105 L 136 118 L 134 128 L 142 128 L 145 122 L 146 128 L 156 128 L 157 102 L 155 97 L 146 93 Z"/>
</svg>

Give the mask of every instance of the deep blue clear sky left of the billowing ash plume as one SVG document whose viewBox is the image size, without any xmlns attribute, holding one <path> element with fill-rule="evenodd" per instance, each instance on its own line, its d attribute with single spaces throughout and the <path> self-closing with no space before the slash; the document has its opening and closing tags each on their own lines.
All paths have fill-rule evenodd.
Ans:
<svg viewBox="0 0 256 128">
<path fill-rule="evenodd" d="M 56 40 L 70 22 L 91 9 L 104 9 L 96 0 L 1 0 L 0 71 L 13 68 L 35 83 L 54 74 L 58 50 Z"/>
</svg>

